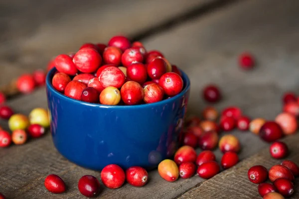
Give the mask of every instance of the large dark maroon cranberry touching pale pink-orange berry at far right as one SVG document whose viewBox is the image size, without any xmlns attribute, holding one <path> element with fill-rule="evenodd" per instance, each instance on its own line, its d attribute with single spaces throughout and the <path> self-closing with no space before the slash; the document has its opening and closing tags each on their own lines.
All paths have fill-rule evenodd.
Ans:
<svg viewBox="0 0 299 199">
<path fill-rule="evenodd" d="M 266 142 L 273 142 L 283 137 L 283 130 L 275 121 L 267 121 L 261 127 L 259 134 Z"/>
</svg>

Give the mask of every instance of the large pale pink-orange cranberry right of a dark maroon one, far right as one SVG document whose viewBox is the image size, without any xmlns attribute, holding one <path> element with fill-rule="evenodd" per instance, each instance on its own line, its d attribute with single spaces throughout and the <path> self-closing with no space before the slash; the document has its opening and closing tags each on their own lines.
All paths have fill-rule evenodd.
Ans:
<svg viewBox="0 0 299 199">
<path fill-rule="evenodd" d="M 297 131 L 298 123 L 294 115 L 283 112 L 275 118 L 275 121 L 282 127 L 285 135 L 294 134 Z"/>
</svg>

